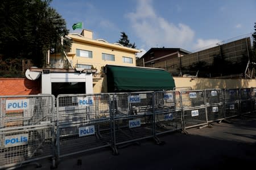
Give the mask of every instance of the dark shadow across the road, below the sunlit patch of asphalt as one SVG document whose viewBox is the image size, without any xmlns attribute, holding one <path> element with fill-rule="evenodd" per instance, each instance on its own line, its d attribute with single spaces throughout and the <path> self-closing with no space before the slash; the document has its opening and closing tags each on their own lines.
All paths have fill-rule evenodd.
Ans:
<svg viewBox="0 0 256 170">
<path fill-rule="evenodd" d="M 159 139 L 165 144 L 142 140 L 139 146 L 119 148 L 117 156 L 105 148 L 63 157 L 57 169 L 247 169 L 256 160 L 255 143 L 180 132 L 160 135 Z M 40 163 L 42 167 L 37 169 L 49 169 L 51 164 L 49 160 Z"/>
</svg>

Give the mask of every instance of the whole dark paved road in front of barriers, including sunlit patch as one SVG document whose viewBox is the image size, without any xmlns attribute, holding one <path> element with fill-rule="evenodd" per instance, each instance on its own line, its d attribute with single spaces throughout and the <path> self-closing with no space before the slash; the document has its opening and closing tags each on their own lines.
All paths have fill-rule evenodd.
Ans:
<svg viewBox="0 0 256 170">
<path fill-rule="evenodd" d="M 106 148 L 65 157 L 57 169 L 255 169 L 256 115 L 187 131 L 159 136 L 165 142 L 161 146 L 143 140 L 119 148 L 118 156 Z M 37 169 L 51 165 L 47 159 L 39 162 L 42 167 Z M 35 165 L 20 169 L 35 169 Z"/>
</svg>

